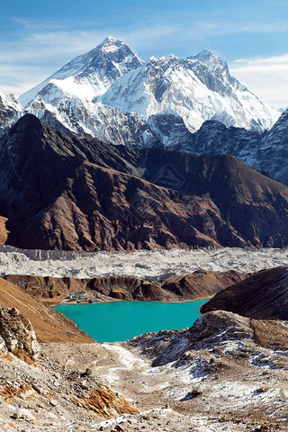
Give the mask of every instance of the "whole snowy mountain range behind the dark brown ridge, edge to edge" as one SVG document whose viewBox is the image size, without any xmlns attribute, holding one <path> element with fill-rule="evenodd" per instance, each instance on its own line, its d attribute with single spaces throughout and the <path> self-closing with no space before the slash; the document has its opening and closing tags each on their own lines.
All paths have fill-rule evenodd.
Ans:
<svg viewBox="0 0 288 432">
<path fill-rule="evenodd" d="M 207 49 L 144 62 L 108 37 L 18 100 L 0 94 L 0 134 L 27 112 L 54 130 L 113 145 L 229 153 L 288 183 L 288 111 L 262 103 Z"/>
</svg>

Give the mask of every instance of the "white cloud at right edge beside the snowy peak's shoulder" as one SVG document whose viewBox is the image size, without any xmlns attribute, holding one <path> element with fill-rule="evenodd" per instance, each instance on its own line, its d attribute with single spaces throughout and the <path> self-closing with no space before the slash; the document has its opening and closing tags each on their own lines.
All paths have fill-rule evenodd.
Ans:
<svg viewBox="0 0 288 432">
<path fill-rule="evenodd" d="M 270 58 L 239 58 L 230 65 L 233 76 L 276 109 L 288 105 L 288 54 Z"/>
</svg>

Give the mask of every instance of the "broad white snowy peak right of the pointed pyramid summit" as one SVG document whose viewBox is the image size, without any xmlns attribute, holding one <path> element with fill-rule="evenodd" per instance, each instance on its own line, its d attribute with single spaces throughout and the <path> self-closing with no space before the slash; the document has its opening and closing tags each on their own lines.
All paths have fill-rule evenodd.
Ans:
<svg viewBox="0 0 288 432">
<path fill-rule="evenodd" d="M 207 50 L 193 58 L 150 58 L 115 81 L 102 101 L 147 120 L 151 115 L 175 114 L 190 131 L 198 130 L 206 120 L 262 131 L 279 117 L 279 112 L 229 75 L 224 60 Z"/>
</svg>

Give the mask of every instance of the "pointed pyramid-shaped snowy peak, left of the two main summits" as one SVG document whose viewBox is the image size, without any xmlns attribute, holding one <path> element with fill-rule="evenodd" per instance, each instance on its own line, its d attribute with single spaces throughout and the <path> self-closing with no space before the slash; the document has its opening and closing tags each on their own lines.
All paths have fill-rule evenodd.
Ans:
<svg viewBox="0 0 288 432">
<path fill-rule="evenodd" d="M 91 101 L 104 94 L 120 76 L 127 74 L 143 61 L 122 40 L 109 36 L 96 48 L 71 60 L 55 74 L 19 97 L 27 107 L 40 98 L 52 105 L 59 95 L 76 96 Z"/>
</svg>

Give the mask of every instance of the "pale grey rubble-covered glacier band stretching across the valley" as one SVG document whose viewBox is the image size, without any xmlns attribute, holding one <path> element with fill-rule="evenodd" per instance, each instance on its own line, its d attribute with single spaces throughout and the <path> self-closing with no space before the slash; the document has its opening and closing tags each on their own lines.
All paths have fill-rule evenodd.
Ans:
<svg viewBox="0 0 288 432">
<path fill-rule="evenodd" d="M 192 273 L 199 268 L 249 273 L 276 266 L 288 266 L 288 249 L 223 247 L 78 254 L 21 250 L 9 246 L 0 248 L 0 275 L 49 275 L 78 279 L 132 275 L 142 279 L 162 279 L 168 275 Z"/>
</svg>

